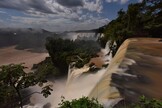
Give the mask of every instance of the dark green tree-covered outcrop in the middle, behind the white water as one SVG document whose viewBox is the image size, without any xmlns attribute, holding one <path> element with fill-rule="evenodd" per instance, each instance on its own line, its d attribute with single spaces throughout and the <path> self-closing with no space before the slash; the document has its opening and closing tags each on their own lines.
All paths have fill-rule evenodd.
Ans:
<svg viewBox="0 0 162 108">
<path fill-rule="evenodd" d="M 52 37 L 47 38 L 46 49 L 50 57 L 34 64 L 32 68 L 42 80 L 67 74 L 68 66 L 72 62 L 75 62 L 75 67 L 81 68 L 100 51 L 99 44 L 92 40 L 72 41 Z"/>
</svg>

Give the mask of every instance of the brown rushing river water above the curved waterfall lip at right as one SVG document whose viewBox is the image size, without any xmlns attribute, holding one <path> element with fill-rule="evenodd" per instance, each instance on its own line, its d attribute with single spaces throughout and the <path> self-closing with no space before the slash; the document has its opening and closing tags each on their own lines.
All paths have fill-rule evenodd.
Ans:
<svg viewBox="0 0 162 108">
<path fill-rule="evenodd" d="M 162 99 L 162 39 L 140 38 L 130 41 L 120 72 L 112 74 L 111 86 L 115 86 L 128 102 L 145 95 Z M 117 55 L 118 56 L 118 55 Z"/>
</svg>

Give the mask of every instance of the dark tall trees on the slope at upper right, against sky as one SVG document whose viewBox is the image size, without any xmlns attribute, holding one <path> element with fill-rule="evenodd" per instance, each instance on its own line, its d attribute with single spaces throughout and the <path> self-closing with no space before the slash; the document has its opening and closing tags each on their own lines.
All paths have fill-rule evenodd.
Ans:
<svg viewBox="0 0 162 108">
<path fill-rule="evenodd" d="M 100 28 L 101 29 L 101 28 Z M 118 17 L 104 26 L 104 37 L 99 39 L 102 46 L 111 40 L 110 47 L 116 52 L 122 42 L 132 37 L 162 36 L 162 1 L 143 0 L 142 3 L 130 4 L 128 10 L 120 10 Z M 117 47 L 113 47 L 113 43 Z M 115 53 L 114 53 L 115 54 Z"/>
</svg>

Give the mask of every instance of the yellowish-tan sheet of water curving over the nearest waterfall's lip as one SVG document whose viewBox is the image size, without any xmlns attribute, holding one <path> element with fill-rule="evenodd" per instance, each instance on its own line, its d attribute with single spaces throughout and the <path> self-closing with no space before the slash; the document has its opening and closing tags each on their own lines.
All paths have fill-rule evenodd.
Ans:
<svg viewBox="0 0 162 108">
<path fill-rule="evenodd" d="M 115 44 L 115 43 L 114 43 Z M 123 45 L 118 49 L 115 57 L 111 60 L 107 70 L 100 77 L 99 82 L 95 85 L 89 97 L 98 98 L 100 102 L 103 102 L 106 108 L 109 108 L 109 105 L 114 105 L 116 102 L 121 100 L 119 91 L 110 85 L 111 83 L 111 75 L 113 73 L 118 73 L 123 70 L 119 69 L 119 65 L 121 61 L 123 61 L 124 55 L 126 53 L 129 41 L 123 43 Z M 127 62 L 132 63 L 132 62 Z M 111 101 L 114 100 L 114 101 Z M 109 104 L 111 102 L 111 104 Z"/>
</svg>

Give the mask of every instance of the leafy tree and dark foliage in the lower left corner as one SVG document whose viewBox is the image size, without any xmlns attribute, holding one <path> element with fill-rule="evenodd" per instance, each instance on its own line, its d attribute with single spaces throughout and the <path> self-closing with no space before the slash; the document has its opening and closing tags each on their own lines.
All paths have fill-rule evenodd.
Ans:
<svg viewBox="0 0 162 108">
<path fill-rule="evenodd" d="M 0 105 L 1 108 L 17 108 L 23 106 L 21 90 L 34 86 L 43 85 L 46 80 L 42 80 L 32 72 L 25 73 L 22 64 L 10 64 L 0 67 Z M 50 86 L 42 88 L 43 96 L 50 95 Z"/>
</svg>

